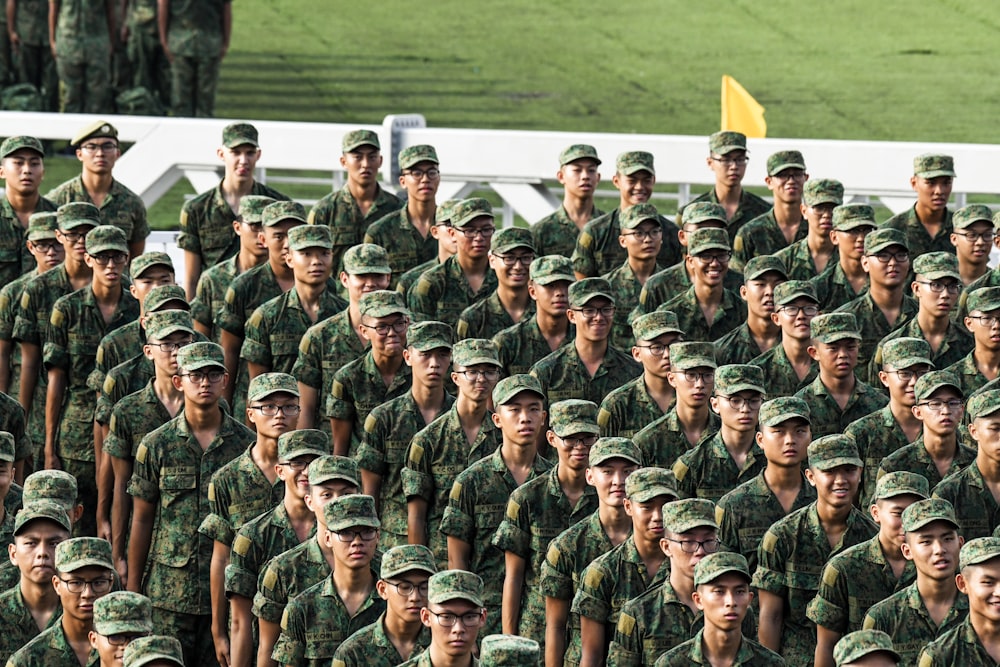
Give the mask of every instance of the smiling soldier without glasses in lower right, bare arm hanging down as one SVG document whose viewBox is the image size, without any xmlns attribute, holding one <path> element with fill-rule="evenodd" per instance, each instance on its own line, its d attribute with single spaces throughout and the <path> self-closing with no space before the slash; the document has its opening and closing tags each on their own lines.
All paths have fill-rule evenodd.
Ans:
<svg viewBox="0 0 1000 667">
<path fill-rule="evenodd" d="M 752 582 L 760 596 L 758 641 L 793 665 L 815 657 L 815 625 L 806 605 L 820 588 L 820 563 L 878 532 L 853 505 L 862 466 L 854 441 L 829 435 L 808 451 L 806 479 L 816 487 L 816 500 L 767 529 Z"/>
</svg>

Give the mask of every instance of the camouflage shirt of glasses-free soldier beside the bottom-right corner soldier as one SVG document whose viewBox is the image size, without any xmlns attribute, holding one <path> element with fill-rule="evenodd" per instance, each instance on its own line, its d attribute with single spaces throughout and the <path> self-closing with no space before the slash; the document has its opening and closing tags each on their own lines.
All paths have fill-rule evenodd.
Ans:
<svg viewBox="0 0 1000 667">
<path fill-rule="evenodd" d="M 861 627 L 864 630 L 881 630 L 889 635 L 892 647 L 902 658 L 900 664 L 915 665 L 924 646 L 961 624 L 968 615 L 969 598 L 956 593 L 955 604 L 938 625 L 928 613 L 917 584 L 912 583 L 872 605 Z"/>
</svg>

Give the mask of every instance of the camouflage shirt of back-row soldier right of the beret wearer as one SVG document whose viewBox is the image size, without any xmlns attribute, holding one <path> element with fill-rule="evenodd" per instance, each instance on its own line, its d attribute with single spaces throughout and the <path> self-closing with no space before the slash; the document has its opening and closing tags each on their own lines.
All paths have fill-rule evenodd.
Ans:
<svg viewBox="0 0 1000 667">
<path fill-rule="evenodd" d="M 197 4 L 192 3 L 193 6 Z M 174 26 L 171 26 L 171 29 L 173 31 Z M 274 188 L 269 188 L 256 180 L 247 194 L 270 197 L 279 201 L 288 199 Z M 177 236 L 177 247 L 198 255 L 203 269 L 235 257 L 240 251 L 240 239 L 233 231 L 236 219 L 236 213 L 222 193 L 222 181 L 220 181 L 211 190 L 206 190 L 184 203 L 181 208 L 181 233 Z"/>
</svg>

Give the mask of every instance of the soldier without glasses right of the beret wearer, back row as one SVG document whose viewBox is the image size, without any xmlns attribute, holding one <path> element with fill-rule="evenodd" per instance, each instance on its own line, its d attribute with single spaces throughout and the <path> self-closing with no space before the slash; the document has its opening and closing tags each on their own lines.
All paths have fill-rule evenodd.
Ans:
<svg viewBox="0 0 1000 667">
<path fill-rule="evenodd" d="M 182 102 L 177 100 L 175 103 Z M 224 168 L 222 181 L 211 190 L 184 202 L 181 209 L 181 233 L 177 237 L 177 247 L 184 251 L 184 290 L 188 299 L 194 299 L 203 271 L 242 252 L 241 229 L 234 223 L 240 221 L 238 214 L 243 198 L 288 199 L 254 178 L 254 170 L 260 160 L 260 143 L 257 128 L 250 123 L 232 123 L 223 128 L 222 145 L 215 153 Z M 244 264 L 243 268 L 245 270 L 249 266 Z"/>
</svg>

